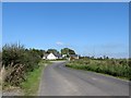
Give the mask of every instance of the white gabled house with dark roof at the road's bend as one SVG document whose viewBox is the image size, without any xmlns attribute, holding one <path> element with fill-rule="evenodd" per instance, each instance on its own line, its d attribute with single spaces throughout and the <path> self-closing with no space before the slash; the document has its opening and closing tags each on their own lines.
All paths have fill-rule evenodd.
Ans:
<svg viewBox="0 0 131 98">
<path fill-rule="evenodd" d="M 49 53 L 49 54 L 44 54 L 43 59 L 57 60 L 57 59 L 62 59 L 62 57 L 59 53 Z"/>
</svg>

